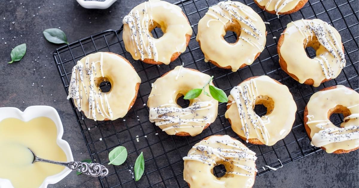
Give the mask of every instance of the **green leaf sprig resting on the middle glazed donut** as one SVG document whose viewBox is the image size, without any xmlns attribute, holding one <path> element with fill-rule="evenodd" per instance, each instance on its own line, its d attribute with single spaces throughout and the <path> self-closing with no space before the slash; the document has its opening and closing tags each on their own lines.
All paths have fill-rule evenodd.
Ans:
<svg viewBox="0 0 359 188">
<path fill-rule="evenodd" d="M 199 89 L 192 89 L 190 91 L 188 91 L 185 95 L 185 97 L 183 97 L 184 99 L 194 99 L 196 97 L 198 97 L 199 95 L 201 95 L 202 91 L 205 95 L 209 96 L 209 97 L 213 97 L 215 100 L 219 101 L 219 102 L 228 102 L 228 98 L 227 95 L 225 94 L 225 92 L 223 90 L 221 90 L 220 88 L 217 88 L 215 86 L 211 86 L 209 83 L 212 81 L 213 76 L 209 79 L 209 81 L 202 87 Z M 209 92 L 211 93 L 211 96 L 208 94 L 208 92 L 205 91 L 205 87 L 209 85 Z"/>
</svg>

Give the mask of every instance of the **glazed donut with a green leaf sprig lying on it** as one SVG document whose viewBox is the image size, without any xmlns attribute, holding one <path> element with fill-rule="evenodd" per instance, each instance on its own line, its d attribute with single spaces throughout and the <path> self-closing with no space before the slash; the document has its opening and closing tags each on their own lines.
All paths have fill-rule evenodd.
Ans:
<svg viewBox="0 0 359 188">
<path fill-rule="evenodd" d="M 202 88 L 211 77 L 198 70 L 177 66 L 158 78 L 148 96 L 149 119 L 170 135 L 196 136 L 217 117 L 218 101 L 203 92 L 182 109 L 177 99 Z M 210 83 L 213 86 L 213 83 Z M 209 86 L 206 86 L 206 91 Z"/>
</svg>

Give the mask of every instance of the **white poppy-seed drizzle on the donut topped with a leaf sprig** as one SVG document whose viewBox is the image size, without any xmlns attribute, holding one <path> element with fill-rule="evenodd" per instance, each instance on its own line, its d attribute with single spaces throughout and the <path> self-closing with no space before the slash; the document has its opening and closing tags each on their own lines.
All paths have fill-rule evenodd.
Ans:
<svg viewBox="0 0 359 188">
<path fill-rule="evenodd" d="M 194 114 L 199 110 L 210 109 L 212 106 L 213 103 L 211 101 L 196 102 L 184 109 L 177 107 L 177 105 L 174 104 L 164 104 L 156 108 L 151 108 L 149 111 L 149 119 L 151 122 L 155 122 L 155 125 L 157 126 L 172 124 L 171 126 L 162 129 L 162 131 L 173 128 L 204 127 L 205 124 L 211 123 L 206 116 L 192 119 L 182 119 L 182 117 Z M 204 125 L 194 125 L 196 123 L 204 123 Z"/>
</svg>

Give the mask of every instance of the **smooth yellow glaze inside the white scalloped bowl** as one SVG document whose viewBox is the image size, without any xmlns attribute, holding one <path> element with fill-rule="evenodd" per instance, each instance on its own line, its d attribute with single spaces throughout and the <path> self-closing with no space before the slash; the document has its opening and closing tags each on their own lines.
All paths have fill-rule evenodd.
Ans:
<svg viewBox="0 0 359 188">
<path fill-rule="evenodd" d="M 38 157 L 66 161 L 56 138 L 56 125 L 50 118 L 0 121 L 0 178 L 9 179 L 15 188 L 38 188 L 46 177 L 60 173 L 65 167 L 43 162 L 32 164 L 33 155 L 27 149 L 31 148 Z"/>
</svg>

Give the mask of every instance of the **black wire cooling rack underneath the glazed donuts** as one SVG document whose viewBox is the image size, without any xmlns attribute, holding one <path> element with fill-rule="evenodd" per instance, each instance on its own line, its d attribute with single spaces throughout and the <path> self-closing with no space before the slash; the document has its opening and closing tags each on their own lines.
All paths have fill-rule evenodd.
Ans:
<svg viewBox="0 0 359 188">
<path fill-rule="evenodd" d="M 243 1 L 241 2 L 243 3 Z M 182 63 L 186 68 L 214 75 L 214 84 L 224 90 L 227 95 L 234 86 L 244 79 L 258 75 L 268 75 L 288 86 L 298 107 L 289 135 L 274 146 L 245 143 L 247 147 L 257 153 L 258 176 L 271 171 L 268 168 L 264 170 L 261 168 L 262 166 L 269 165 L 278 168 L 280 166 L 278 159 L 285 165 L 320 150 L 320 148 L 310 145 L 303 126 L 304 107 L 314 92 L 336 84 L 342 84 L 358 91 L 358 0 L 309 0 L 300 11 L 290 15 L 280 15 L 279 18 L 262 11 L 253 1 L 245 1 L 244 4 L 251 6 L 263 20 L 270 24 L 266 24 L 268 33 L 264 51 L 252 65 L 239 69 L 237 72 L 205 63 L 204 55 L 195 39 L 198 21 L 207 12 L 208 7 L 216 3 L 218 0 L 183 0 L 176 3 L 187 15 L 194 33 L 186 51 L 170 65 L 158 66 L 134 61 L 131 55 L 125 51 L 121 37 L 122 28 L 97 33 L 60 47 L 53 52 L 53 58 L 66 94 L 68 94 L 73 66 L 85 55 L 98 51 L 111 51 L 124 56 L 132 63 L 141 77 L 142 83 L 136 102 L 124 118 L 114 121 L 93 121 L 87 119 L 75 108 L 73 101 L 69 100 L 91 159 L 109 167 L 109 174 L 104 178 L 99 178 L 102 187 L 187 187 L 187 183 L 183 180 L 182 157 L 187 155 L 195 143 L 214 134 L 229 134 L 242 141 L 233 132 L 228 120 L 224 117 L 226 111 L 224 103 L 219 104 L 219 114 L 214 123 L 195 137 L 169 136 L 149 122 L 149 109 L 145 104 L 147 104 L 151 91 L 151 83 Z M 302 18 L 319 18 L 330 23 L 339 31 L 344 44 L 346 66 L 336 79 L 323 83 L 317 88 L 299 84 L 289 77 L 278 63 L 276 47 L 280 33 L 283 32 L 287 23 Z M 157 38 L 162 36 L 162 31 L 158 28 L 154 29 L 152 33 Z M 234 42 L 236 39 L 236 33 L 227 32 L 225 40 Z M 311 57 L 315 56 L 314 50 L 307 49 L 307 53 Z M 178 104 L 185 107 L 188 106 L 188 101 L 181 98 L 178 100 Z M 266 113 L 264 107 L 256 106 L 255 110 L 257 114 Z M 331 120 L 335 124 L 339 124 L 342 122 L 342 116 L 332 115 Z M 119 166 L 107 165 L 109 151 L 120 145 L 127 148 L 126 162 Z M 145 158 L 145 172 L 143 177 L 135 182 L 129 170 L 133 171 L 135 159 L 142 151 Z M 214 169 L 214 174 L 217 176 L 221 176 L 223 173 L 223 166 Z"/>
</svg>

